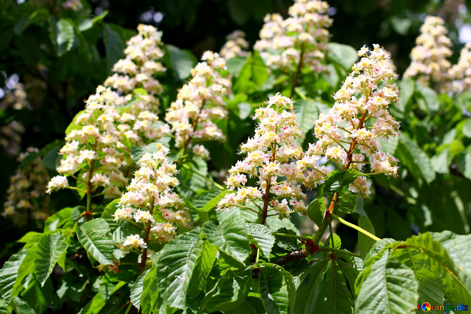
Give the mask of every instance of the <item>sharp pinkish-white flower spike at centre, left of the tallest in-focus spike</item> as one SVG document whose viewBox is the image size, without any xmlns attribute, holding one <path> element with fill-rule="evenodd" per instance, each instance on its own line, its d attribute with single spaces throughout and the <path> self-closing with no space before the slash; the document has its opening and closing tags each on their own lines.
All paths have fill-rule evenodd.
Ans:
<svg viewBox="0 0 471 314">
<path fill-rule="evenodd" d="M 304 204 L 307 196 L 301 191 L 305 177 L 295 162 L 302 157 L 303 151 L 296 142 L 302 132 L 292 111 L 293 100 L 278 93 L 271 96 L 267 104 L 257 109 L 253 116 L 254 120 L 259 120 L 255 136 L 240 146 L 241 153 L 247 153 L 247 156 L 229 169 L 224 182 L 227 189 L 237 188 L 237 192 L 226 194 L 217 208 L 241 207 L 256 212 L 253 208 L 258 208 L 262 224 L 270 210 L 278 213 L 268 216 L 279 215 L 280 219 L 290 217 L 294 212 L 307 213 Z M 247 186 L 247 176 L 258 178 L 257 186 Z"/>
</svg>

